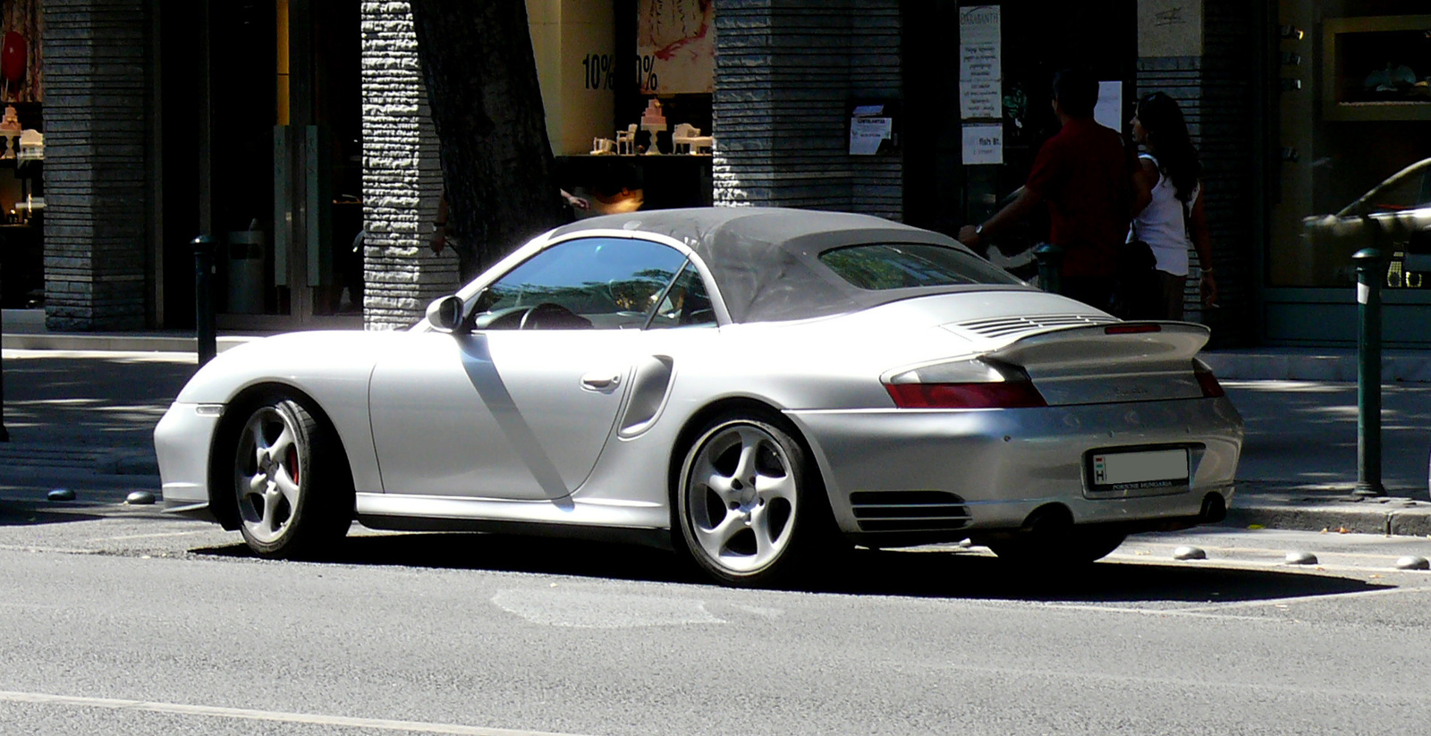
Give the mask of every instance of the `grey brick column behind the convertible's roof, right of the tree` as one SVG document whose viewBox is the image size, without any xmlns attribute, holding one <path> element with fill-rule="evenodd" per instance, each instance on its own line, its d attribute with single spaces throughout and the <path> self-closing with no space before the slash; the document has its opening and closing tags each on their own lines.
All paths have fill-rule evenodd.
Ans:
<svg viewBox="0 0 1431 736">
<path fill-rule="evenodd" d="M 903 216 L 900 155 L 850 156 L 849 103 L 899 99 L 897 0 L 716 6 L 717 205 Z"/>
</svg>

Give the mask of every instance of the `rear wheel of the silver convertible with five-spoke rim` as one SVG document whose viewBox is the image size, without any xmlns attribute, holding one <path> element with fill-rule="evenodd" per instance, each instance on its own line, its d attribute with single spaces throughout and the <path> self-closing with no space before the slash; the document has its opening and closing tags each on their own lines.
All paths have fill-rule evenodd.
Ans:
<svg viewBox="0 0 1431 736">
<path fill-rule="evenodd" d="M 677 490 L 681 536 L 716 580 L 757 586 L 807 567 L 836 537 L 819 471 L 778 420 L 720 417 L 685 454 Z"/>
</svg>

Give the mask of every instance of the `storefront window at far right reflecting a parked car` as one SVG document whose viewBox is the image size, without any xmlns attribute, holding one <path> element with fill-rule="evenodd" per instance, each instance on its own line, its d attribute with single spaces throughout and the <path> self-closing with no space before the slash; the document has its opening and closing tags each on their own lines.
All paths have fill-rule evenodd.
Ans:
<svg viewBox="0 0 1431 736">
<path fill-rule="evenodd" d="M 1281 3 L 1307 27 L 1281 34 L 1274 288 L 1348 288 L 1351 255 L 1371 246 L 1392 253 L 1387 288 L 1408 288 L 1390 273 L 1431 228 L 1431 16 L 1392 14 L 1421 3 L 1352 4 Z M 1359 14 L 1372 10 L 1387 14 Z"/>
</svg>

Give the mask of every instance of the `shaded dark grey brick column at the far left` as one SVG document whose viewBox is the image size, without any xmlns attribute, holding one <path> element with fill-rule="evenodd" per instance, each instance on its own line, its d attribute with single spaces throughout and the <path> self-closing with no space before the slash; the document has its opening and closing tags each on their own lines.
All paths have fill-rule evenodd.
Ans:
<svg viewBox="0 0 1431 736">
<path fill-rule="evenodd" d="M 142 329 L 147 219 L 142 0 L 44 0 L 44 321 Z"/>
</svg>

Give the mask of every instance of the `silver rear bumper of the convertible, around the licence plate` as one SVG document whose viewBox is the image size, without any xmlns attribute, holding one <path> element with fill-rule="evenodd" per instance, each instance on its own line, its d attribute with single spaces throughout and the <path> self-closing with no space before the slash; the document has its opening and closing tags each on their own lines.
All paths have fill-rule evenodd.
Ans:
<svg viewBox="0 0 1431 736">
<path fill-rule="evenodd" d="M 856 538 L 962 538 L 1017 528 L 1037 507 L 1058 503 L 1075 524 L 1129 530 L 1192 526 L 1203 500 L 1232 500 L 1242 418 L 1226 398 L 1025 410 L 791 411 L 820 464 L 840 528 Z M 1089 493 L 1090 450 L 1189 447 L 1186 487 L 1136 497 Z M 967 518 L 929 530 L 861 528 L 850 495 L 860 491 L 944 491 Z M 861 498 L 870 498 L 869 495 Z M 861 501 L 863 503 L 863 501 Z"/>
</svg>

